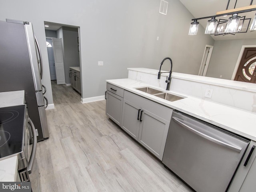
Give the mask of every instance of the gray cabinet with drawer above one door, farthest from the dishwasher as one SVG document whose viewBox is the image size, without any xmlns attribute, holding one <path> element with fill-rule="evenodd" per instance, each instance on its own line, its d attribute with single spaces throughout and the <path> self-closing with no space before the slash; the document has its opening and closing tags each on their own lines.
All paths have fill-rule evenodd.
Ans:
<svg viewBox="0 0 256 192">
<path fill-rule="evenodd" d="M 106 115 L 121 126 L 124 90 L 107 83 Z"/>
</svg>

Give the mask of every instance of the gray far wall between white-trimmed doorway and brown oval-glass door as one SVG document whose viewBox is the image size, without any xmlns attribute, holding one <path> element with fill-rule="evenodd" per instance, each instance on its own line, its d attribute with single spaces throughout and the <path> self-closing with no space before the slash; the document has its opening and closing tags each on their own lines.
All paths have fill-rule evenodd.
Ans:
<svg viewBox="0 0 256 192">
<path fill-rule="evenodd" d="M 231 80 L 243 45 L 256 45 L 256 38 L 215 41 L 206 76 Z"/>
</svg>

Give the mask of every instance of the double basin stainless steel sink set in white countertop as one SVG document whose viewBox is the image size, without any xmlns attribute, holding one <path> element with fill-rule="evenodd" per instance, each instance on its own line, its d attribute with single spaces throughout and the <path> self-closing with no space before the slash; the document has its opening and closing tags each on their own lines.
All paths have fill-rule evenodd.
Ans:
<svg viewBox="0 0 256 192">
<path fill-rule="evenodd" d="M 163 91 L 160 91 L 160 90 L 157 90 L 157 89 L 153 89 L 153 88 L 150 88 L 150 87 L 142 87 L 142 88 L 136 88 L 136 89 L 139 90 L 139 91 L 157 96 L 159 98 L 168 100 L 168 101 L 177 101 L 177 100 L 180 100 L 180 99 L 184 99 L 184 97 L 176 96 L 176 95 L 166 93 L 166 92 L 163 92 Z"/>
</svg>

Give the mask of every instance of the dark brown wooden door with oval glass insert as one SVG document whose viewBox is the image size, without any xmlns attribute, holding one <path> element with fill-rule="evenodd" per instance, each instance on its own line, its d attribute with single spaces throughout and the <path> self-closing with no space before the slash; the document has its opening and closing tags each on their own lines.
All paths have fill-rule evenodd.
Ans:
<svg viewBox="0 0 256 192">
<path fill-rule="evenodd" d="M 234 80 L 256 83 L 256 47 L 244 49 Z"/>
</svg>

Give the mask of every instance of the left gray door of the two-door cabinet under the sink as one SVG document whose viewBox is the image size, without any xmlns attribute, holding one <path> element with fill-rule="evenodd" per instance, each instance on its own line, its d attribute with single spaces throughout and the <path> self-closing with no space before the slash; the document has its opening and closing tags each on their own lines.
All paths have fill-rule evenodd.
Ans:
<svg viewBox="0 0 256 192">
<path fill-rule="evenodd" d="M 122 129 L 138 140 L 140 128 L 140 107 L 124 99 Z"/>
</svg>

